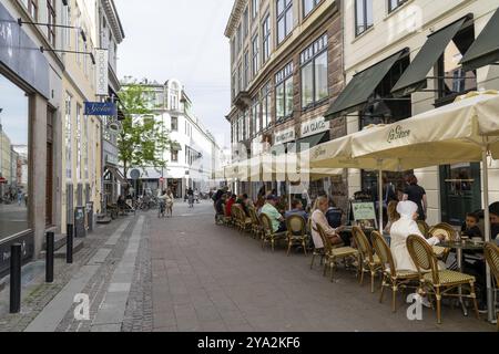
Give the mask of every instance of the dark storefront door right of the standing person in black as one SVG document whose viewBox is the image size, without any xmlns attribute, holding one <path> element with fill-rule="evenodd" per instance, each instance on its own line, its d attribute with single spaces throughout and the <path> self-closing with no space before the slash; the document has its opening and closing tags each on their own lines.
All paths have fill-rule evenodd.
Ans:
<svg viewBox="0 0 499 354">
<path fill-rule="evenodd" d="M 481 208 L 480 164 L 440 167 L 441 220 L 461 225 L 466 214 Z"/>
</svg>

